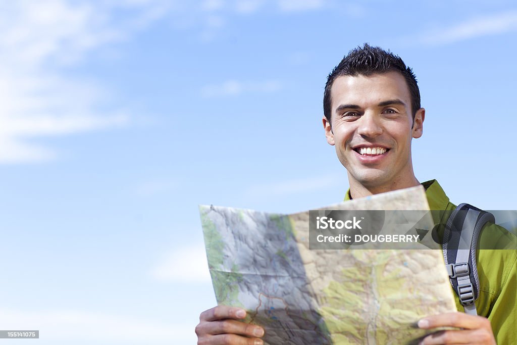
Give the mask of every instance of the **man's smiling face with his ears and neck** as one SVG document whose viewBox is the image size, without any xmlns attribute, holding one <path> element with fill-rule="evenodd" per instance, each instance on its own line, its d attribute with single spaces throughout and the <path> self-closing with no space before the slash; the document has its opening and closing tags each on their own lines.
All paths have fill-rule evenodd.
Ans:
<svg viewBox="0 0 517 345">
<path fill-rule="evenodd" d="M 341 76 L 331 89 L 331 124 L 323 118 L 327 142 L 348 171 L 351 187 L 382 192 L 415 181 L 411 140 L 422 135 L 425 111 L 413 116 L 401 73 Z"/>
</svg>

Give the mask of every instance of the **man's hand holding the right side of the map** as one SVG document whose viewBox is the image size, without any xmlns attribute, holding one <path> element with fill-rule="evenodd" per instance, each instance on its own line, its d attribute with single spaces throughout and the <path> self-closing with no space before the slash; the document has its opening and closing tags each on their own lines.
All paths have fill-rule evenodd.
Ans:
<svg viewBox="0 0 517 345">
<path fill-rule="evenodd" d="M 423 338 L 421 344 L 490 344 L 495 345 L 494 333 L 488 319 L 462 312 L 430 316 L 418 321 L 418 327 L 458 327 L 454 331 L 441 331 Z"/>
</svg>

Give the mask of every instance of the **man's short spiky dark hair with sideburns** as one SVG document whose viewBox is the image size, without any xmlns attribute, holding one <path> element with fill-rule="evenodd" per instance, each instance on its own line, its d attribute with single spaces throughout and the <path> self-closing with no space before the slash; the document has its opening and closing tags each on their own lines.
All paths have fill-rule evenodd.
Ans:
<svg viewBox="0 0 517 345">
<path fill-rule="evenodd" d="M 332 83 L 341 76 L 371 76 L 372 74 L 399 71 L 406 80 L 409 94 L 411 96 L 411 111 L 413 118 L 420 109 L 420 90 L 418 89 L 417 79 L 413 70 L 404 64 L 402 59 L 390 51 L 385 51 L 379 47 L 371 47 L 364 43 L 363 47 L 357 47 L 345 55 L 338 66 L 334 67 L 327 77 L 325 93 L 323 95 L 323 113 L 330 123 L 332 115 L 332 100 L 330 91 Z"/>
</svg>

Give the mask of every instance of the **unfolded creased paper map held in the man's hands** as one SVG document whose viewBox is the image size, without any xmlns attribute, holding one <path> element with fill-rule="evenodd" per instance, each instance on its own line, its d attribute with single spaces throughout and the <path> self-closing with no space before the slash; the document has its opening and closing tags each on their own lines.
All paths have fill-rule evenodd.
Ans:
<svg viewBox="0 0 517 345">
<path fill-rule="evenodd" d="M 419 186 L 324 210 L 429 205 Z M 202 205 L 200 214 L 218 304 L 246 309 L 266 344 L 416 344 L 432 333 L 416 327 L 419 319 L 456 311 L 440 250 L 310 249 L 309 211 Z M 431 217 L 418 227 L 432 229 Z"/>
</svg>

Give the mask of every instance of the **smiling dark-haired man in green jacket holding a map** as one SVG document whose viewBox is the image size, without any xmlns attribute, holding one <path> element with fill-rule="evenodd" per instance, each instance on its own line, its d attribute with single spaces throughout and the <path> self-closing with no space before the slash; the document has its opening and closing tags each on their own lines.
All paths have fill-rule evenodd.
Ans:
<svg viewBox="0 0 517 345">
<path fill-rule="evenodd" d="M 422 136 L 424 118 L 415 76 L 400 57 L 364 44 L 343 58 L 327 79 L 323 126 L 348 173 L 345 200 L 420 184 L 413 172 L 411 142 Z M 436 181 L 422 185 L 431 209 L 454 209 Z M 507 236 L 503 231 L 486 226 L 481 245 L 493 236 Z M 517 243 L 515 236 L 510 241 Z M 424 318 L 418 322 L 421 328 L 455 329 L 429 335 L 423 344 L 517 343 L 517 253 L 478 250 L 477 259 L 479 316 L 455 312 Z M 264 330 L 238 321 L 245 316 L 245 310 L 227 306 L 204 311 L 196 327 L 198 344 L 262 344 Z"/>
</svg>

